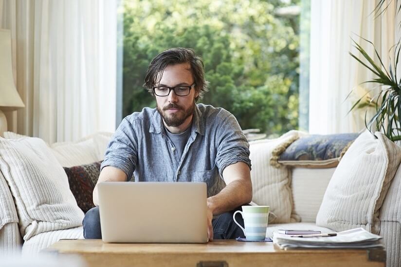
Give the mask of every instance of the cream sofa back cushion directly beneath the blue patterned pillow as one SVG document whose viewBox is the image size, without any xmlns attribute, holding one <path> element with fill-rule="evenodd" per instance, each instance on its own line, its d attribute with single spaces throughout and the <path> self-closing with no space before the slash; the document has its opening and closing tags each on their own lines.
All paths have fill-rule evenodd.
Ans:
<svg viewBox="0 0 401 267">
<path fill-rule="evenodd" d="M 316 221 L 317 212 L 335 169 L 292 169 L 293 213 L 301 217 L 301 222 Z"/>
</svg>

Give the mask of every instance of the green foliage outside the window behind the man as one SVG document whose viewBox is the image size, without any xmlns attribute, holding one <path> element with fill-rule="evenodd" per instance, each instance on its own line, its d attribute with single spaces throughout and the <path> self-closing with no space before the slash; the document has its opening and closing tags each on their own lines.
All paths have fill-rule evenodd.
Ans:
<svg viewBox="0 0 401 267">
<path fill-rule="evenodd" d="M 282 134 L 297 128 L 299 37 L 292 26 L 297 18 L 276 17 L 274 8 L 284 5 L 280 0 L 126 1 L 124 115 L 156 105 L 142 87 L 151 59 L 171 47 L 190 47 L 203 58 L 210 82 L 200 102 L 227 109 L 242 129 Z"/>
</svg>

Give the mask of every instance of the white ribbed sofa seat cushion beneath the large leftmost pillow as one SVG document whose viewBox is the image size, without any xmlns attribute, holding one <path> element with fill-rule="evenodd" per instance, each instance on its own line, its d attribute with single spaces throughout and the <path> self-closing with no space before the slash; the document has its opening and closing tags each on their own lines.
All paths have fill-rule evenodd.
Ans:
<svg viewBox="0 0 401 267">
<path fill-rule="evenodd" d="M 84 239 L 83 228 L 75 227 L 65 230 L 56 230 L 40 233 L 24 243 L 22 246 L 22 255 L 32 255 L 40 252 L 44 248 L 56 243 L 60 239 Z"/>
</svg>

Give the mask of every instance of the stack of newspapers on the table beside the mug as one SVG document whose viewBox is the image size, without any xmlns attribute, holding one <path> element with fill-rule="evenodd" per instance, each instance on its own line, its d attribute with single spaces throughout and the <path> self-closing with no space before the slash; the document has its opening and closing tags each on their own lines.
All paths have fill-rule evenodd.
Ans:
<svg viewBox="0 0 401 267">
<path fill-rule="evenodd" d="M 292 248 L 383 248 L 382 237 L 365 229 L 357 228 L 338 232 L 330 237 L 293 237 L 287 234 L 273 233 L 273 243 L 282 249 Z"/>
</svg>

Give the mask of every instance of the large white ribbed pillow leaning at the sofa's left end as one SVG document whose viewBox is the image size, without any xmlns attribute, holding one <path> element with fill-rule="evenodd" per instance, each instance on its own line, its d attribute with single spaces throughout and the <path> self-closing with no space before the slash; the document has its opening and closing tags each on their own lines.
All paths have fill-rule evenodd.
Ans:
<svg viewBox="0 0 401 267">
<path fill-rule="evenodd" d="M 39 138 L 0 138 L 0 171 L 16 199 L 25 241 L 41 232 L 82 225 L 67 175 Z"/>
</svg>

